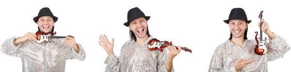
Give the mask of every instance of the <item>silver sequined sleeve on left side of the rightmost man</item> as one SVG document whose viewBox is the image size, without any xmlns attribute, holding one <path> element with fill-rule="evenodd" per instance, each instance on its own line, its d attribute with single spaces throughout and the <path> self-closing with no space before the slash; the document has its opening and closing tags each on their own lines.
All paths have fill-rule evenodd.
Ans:
<svg viewBox="0 0 291 72">
<path fill-rule="evenodd" d="M 209 71 L 208 72 L 237 72 L 234 65 L 226 66 L 227 68 L 224 68 L 224 45 L 220 45 L 216 48 L 214 51 L 214 54 L 212 55 Z"/>
</svg>

